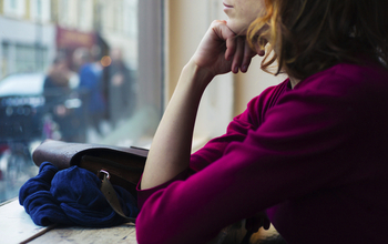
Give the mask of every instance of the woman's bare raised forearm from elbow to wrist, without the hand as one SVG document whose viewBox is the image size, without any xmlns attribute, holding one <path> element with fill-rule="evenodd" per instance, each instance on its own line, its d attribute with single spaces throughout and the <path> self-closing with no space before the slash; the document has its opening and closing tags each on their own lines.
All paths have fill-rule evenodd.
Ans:
<svg viewBox="0 0 388 244">
<path fill-rule="evenodd" d="M 153 139 L 141 182 L 142 189 L 165 183 L 188 166 L 198 104 L 212 78 L 194 62 L 188 62 L 183 69 Z"/>
</svg>

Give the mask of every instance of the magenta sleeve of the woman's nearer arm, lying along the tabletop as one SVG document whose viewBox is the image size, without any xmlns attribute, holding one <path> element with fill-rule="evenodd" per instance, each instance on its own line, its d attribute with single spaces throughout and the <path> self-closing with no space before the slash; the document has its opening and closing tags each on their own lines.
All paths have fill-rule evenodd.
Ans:
<svg viewBox="0 0 388 244">
<path fill-rule="evenodd" d="M 370 104 L 357 93 L 363 88 L 330 79 L 325 87 L 306 81 L 287 92 L 257 129 L 228 143 L 215 162 L 151 194 L 136 221 L 139 243 L 205 243 L 286 200 L 363 177 L 357 169 L 374 151 L 363 150 L 370 136 L 361 131 L 387 118 L 370 118 Z"/>
</svg>

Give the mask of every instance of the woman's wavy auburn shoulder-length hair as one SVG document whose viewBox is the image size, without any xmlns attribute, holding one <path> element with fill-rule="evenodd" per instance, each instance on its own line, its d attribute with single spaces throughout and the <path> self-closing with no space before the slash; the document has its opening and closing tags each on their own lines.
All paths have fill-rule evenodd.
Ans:
<svg viewBox="0 0 388 244">
<path fill-rule="evenodd" d="M 264 1 L 263 17 L 247 31 L 251 45 L 264 48 L 264 37 L 270 41 L 264 71 L 277 60 L 275 74 L 305 79 L 339 62 L 361 64 L 366 57 L 387 67 L 387 0 Z"/>
</svg>

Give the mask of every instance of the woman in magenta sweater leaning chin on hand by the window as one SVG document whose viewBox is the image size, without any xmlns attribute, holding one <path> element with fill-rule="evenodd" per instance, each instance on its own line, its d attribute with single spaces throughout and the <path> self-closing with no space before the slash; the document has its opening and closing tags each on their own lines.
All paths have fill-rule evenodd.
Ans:
<svg viewBox="0 0 388 244">
<path fill-rule="evenodd" d="M 386 1 L 224 4 L 229 20 L 212 23 L 155 134 L 139 185 L 139 243 L 206 243 L 262 211 L 290 244 L 385 243 Z M 247 71 L 256 53 L 266 54 L 263 69 L 276 60 L 277 73 L 289 79 L 190 155 L 206 85 L 217 74 Z"/>
</svg>

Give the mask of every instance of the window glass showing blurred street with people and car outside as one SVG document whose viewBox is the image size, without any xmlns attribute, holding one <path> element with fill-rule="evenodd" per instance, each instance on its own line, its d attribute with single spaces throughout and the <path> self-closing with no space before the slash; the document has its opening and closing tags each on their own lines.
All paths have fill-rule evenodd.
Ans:
<svg viewBox="0 0 388 244">
<path fill-rule="evenodd" d="M 143 20 L 161 23 L 163 8 L 152 1 L 151 11 L 145 2 L 0 1 L 0 202 L 18 196 L 38 173 L 31 154 L 45 139 L 151 144 L 163 108 L 162 75 L 139 63 L 161 72 L 163 59 L 139 53 L 150 50 L 142 40 L 159 49 L 163 43 L 150 37 L 162 37 L 161 30 L 140 31 L 139 19 L 154 11 Z"/>
</svg>

